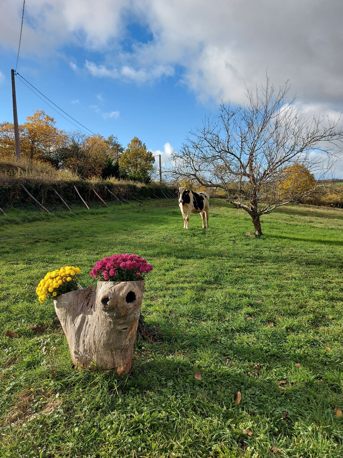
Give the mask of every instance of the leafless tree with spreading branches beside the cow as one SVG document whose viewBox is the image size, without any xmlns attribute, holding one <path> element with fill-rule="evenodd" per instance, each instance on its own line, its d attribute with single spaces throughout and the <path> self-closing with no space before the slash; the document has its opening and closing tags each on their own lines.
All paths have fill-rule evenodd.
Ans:
<svg viewBox="0 0 343 458">
<path fill-rule="evenodd" d="M 288 92 L 288 82 L 276 90 L 267 76 L 265 87 L 247 88 L 246 104 L 231 108 L 222 102 L 219 114 L 206 117 L 171 158 L 174 178 L 222 188 L 228 202 L 251 216 L 257 236 L 262 215 L 322 186 L 319 179 L 332 167 L 343 140 L 339 119 L 306 118 L 298 113 L 295 97 L 287 101 Z M 283 182 L 295 164 L 317 180 L 288 192 Z"/>
</svg>

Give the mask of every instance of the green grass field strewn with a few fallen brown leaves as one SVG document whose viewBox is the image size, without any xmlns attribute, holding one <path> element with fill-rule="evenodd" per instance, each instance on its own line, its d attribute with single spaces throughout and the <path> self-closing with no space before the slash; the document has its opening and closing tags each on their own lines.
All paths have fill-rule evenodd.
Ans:
<svg viewBox="0 0 343 458">
<path fill-rule="evenodd" d="M 1 458 L 343 457 L 342 210 L 284 207 L 261 239 L 222 201 L 207 231 L 198 215 L 183 230 L 176 202 L 8 218 Z M 137 337 L 129 375 L 75 371 L 36 285 L 66 264 L 95 284 L 96 260 L 118 252 L 154 266 L 142 310 L 157 338 Z"/>
</svg>

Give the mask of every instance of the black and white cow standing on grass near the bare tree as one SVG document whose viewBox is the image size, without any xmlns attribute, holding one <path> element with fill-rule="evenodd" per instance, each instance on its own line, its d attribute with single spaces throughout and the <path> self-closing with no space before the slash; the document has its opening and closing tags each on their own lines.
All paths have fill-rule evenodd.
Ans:
<svg viewBox="0 0 343 458">
<path fill-rule="evenodd" d="M 183 229 L 188 229 L 189 215 L 200 213 L 203 220 L 203 229 L 209 227 L 209 195 L 206 192 L 192 192 L 186 188 L 179 188 L 179 207 L 183 216 Z"/>
</svg>

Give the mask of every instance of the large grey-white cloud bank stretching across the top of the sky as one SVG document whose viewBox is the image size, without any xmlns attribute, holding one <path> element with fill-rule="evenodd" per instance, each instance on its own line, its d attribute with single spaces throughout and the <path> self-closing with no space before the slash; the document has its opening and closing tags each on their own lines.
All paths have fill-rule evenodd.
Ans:
<svg viewBox="0 0 343 458">
<path fill-rule="evenodd" d="M 2 0 L 0 44 L 17 49 L 19 0 Z M 342 109 L 343 2 L 332 0 L 31 0 L 26 5 L 22 55 L 54 55 L 64 45 L 97 52 L 86 60 L 93 76 L 145 83 L 173 75 L 198 98 L 241 101 L 244 83 L 286 79 L 306 102 Z M 126 27 L 138 22 L 152 39 L 122 48 Z M 70 64 L 76 70 L 75 63 Z"/>
</svg>

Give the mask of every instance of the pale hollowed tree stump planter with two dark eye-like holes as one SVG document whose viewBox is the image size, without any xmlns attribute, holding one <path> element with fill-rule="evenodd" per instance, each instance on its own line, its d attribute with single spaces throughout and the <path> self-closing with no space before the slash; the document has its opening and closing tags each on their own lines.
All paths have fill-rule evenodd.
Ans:
<svg viewBox="0 0 343 458">
<path fill-rule="evenodd" d="M 98 282 L 54 299 L 75 367 L 131 369 L 143 292 L 144 280 Z"/>
</svg>

